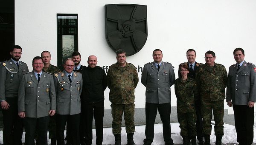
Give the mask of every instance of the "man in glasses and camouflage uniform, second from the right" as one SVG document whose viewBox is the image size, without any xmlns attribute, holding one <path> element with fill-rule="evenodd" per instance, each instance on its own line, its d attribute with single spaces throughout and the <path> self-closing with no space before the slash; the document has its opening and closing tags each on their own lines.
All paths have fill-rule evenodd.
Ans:
<svg viewBox="0 0 256 145">
<path fill-rule="evenodd" d="M 227 86 L 227 71 L 221 64 L 215 63 L 215 53 L 205 53 L 206 63 L 196 71 L 196 81 L 201 96 L 203 134 L 205 145 L 210 145 L 212 111 L 214 115 L 214 131 L 216 145 L 221 145 L 224 117 L 225 88 Z"/>
</svg>

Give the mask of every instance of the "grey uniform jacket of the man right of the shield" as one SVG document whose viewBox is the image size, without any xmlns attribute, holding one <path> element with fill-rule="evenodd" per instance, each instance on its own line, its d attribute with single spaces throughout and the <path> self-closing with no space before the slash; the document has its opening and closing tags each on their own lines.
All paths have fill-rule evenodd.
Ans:
<svg viewBox="0 0 256 145">
<path fill-rule="evenodd" d="M 141 83 L 146 87 L 147 103 L 171 102 L 171 86 L 175 82 L 172 64 L 162 61 L 159 71 L 154 62 L 144 65 Z"/>
</svg>

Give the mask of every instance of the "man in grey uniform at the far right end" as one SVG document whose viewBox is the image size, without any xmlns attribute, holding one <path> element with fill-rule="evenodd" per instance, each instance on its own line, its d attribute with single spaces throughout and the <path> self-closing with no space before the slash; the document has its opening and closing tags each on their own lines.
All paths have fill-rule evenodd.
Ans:
<svg viewBox="0 0 256 145">
<path fill-rule="evenodd" d="M 233 52 L 236 64 L 229 67 L 227 105 L 234 110 L 237 142 L 239 145 L 253 143 L 254 102 L 256 102 L 256 67 L 244 61 L 244 50 Z"/>
</svg>

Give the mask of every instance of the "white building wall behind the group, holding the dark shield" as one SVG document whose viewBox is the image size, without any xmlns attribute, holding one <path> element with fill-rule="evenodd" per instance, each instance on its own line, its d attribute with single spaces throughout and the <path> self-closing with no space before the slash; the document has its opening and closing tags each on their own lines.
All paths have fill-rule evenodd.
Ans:
<svg viewBox="0 0 256 145">
<path fill-rule="evenodd" d="M 216 63 L 226 69 L 234 64 L 233 50 L 244 48 L 245 60 L 256 63 L 256 0 L 15 0 L 15 44 L 23 47 L 21 60 L 32 70 L 32 59 L 43 50 L 57 64 L 56 14 L 78 14 L 81 64 L 96 55 L 98 65 L 116 62 L 115 53 L 105 39 L 105 4 L 147 5 L 148 39 L 143 49 L 129 56 L 135 66 L 153 61 L 152 51 L 163 50 L 163 61 L 175 67 L 186 61 L 186 50 L 197 51 L 197 61 L 205 63 L 204 53 L 213 50 Z M 228 70 L 227 70 L 228 71 Z M 139 77 L 141 73 L 139 73 Z M 176 106 L 172 86 L 172 106 Z M 109 89 L 105 91 L 105 109 L 110 109 Z M 145 87 L 135 90 L 136 108 L 145 107 Z M 225 108 L 228 108 L 225 103 Z M 232 112 L 232 109 L 230 109 Z"/>
</svg>

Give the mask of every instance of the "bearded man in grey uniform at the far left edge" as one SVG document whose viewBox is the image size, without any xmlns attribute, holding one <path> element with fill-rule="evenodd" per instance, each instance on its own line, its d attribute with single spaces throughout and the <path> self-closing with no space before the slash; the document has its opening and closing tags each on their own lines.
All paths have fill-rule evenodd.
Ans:
<svg viewBox="0 0 256 145">
<path fill-rule="evenodd" d="M 0 102 L 3 109 L 4 145 L 21 145 L 23 123 L 18 117 L 17 96 L 23 74 L 28 73 L 28 66 L 19 61 L 22 48 L 12 47 L 12 58 L 0 64 Z"/>
</svg>

